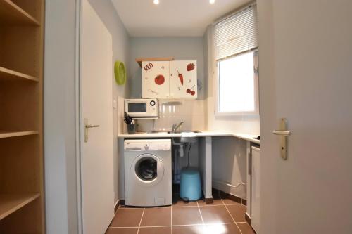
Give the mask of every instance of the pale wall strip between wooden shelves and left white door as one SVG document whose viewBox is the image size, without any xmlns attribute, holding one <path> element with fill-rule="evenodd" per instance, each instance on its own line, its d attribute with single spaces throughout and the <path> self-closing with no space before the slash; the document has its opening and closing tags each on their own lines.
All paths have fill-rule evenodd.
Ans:
<svg viewBox="0 0 352 234">
<path fill-rule="evenodd" d="M 47 0 L 44 54 L 46 233 L 77 233 L 75 1 Z"/>
</svg>

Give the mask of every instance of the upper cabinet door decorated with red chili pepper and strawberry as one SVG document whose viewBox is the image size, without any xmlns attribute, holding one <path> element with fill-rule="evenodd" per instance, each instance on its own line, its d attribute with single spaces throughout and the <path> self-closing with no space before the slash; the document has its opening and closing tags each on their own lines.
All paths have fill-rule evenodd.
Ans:
<svg viewBox="0 0 352 234">
<path fill-rule="evenodd" d="M 170 98 L 196 99 L 196 60 L 170 61 Z"/>
</svg>

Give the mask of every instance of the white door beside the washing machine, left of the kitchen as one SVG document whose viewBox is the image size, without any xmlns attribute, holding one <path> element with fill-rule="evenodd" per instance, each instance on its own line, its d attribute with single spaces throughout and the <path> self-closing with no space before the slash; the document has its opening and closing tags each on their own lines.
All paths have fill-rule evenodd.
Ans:
<svg viewBox="0 0 352 234">
<path fill-rule="evenodd" d="M 103 234 L 113 219 L 112 39 L 87 0 L 81 9 L 81 180 L 84 234 Z M 88 129 L 84 119 L 99 127 Z"/>
</svg>

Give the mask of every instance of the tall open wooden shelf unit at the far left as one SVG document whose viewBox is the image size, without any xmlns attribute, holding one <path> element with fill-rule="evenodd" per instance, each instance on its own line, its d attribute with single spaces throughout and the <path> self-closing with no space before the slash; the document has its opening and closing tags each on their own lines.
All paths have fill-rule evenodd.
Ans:
<svg viewBox="0 0 352 234">
<path fill-rule="evenodd" d="M 0 233 L 45 233 L 44 0 L 0 0 Z"/>
</svg>

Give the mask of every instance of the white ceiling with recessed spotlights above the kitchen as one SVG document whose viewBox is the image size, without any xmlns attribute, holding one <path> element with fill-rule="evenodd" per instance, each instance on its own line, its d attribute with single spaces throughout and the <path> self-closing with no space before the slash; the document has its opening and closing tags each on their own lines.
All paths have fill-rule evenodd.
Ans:
<svg viewBox="0 0 352 234">
<path fill-rule="evenodd" d="M 202 36 L 207 25 L 249 0 L 111 0 L 131 37 Z"/>
</svg>

